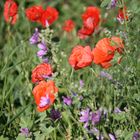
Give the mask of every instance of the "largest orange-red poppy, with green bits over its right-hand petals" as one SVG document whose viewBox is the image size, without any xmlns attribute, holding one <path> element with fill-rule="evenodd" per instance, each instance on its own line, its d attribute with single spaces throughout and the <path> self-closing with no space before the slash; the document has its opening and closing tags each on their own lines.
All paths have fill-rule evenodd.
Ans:
<svg viewBox="0 0 140 140">
<path fill-rule="evenodd" d="M 115 53 L 122 54 L 123 48 L 123 41 L 119 37 L 103 38 L 92 51 L 93 62 L 103 68 L 108 68 L 111 66 L 111 60 L 113 60 Z"/>
</svg>

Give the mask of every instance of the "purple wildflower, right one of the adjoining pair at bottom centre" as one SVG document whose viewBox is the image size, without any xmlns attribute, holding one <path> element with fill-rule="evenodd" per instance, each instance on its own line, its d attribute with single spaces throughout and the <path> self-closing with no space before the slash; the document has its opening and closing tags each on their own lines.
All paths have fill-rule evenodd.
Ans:
<svg viewBox="0 0 140 140">
<path fill-rule="evenodd" d="M 91 112 L 91 121 L 93 125 L 97 124 L 100 121 L 100 118 L 101 118 L 100 110 L 96 111 L 95 113 Z"/>
</svg>

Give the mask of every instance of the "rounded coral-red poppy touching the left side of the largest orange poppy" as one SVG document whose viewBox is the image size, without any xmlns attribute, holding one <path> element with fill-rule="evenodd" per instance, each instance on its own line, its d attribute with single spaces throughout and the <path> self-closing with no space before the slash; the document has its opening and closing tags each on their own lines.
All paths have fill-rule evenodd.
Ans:
<svg viewBox="0 0 140 140">
<path fill-rule="evenodd" d="M 91 65 L 93 56 L 89 46 L 76 46 L 69 57 L 69 64 L 75 69 Z"/>
</svg>

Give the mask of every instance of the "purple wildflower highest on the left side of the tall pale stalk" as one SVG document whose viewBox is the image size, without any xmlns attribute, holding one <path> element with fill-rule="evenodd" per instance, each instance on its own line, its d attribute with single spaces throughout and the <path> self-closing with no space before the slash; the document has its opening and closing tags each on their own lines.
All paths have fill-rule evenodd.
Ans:
<svg viewBox="0 0 140 140">
<path fill-rule="evenodd" d="M 35 28 L 35 32 L 32 35 L 32 37 L 30 38 L 30 44 L 37 44 L 39 40 L 39 32 L 38 32 L 38 28 Z"/>
</svg>

